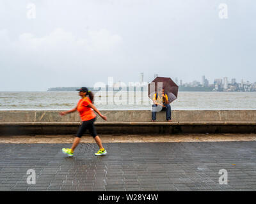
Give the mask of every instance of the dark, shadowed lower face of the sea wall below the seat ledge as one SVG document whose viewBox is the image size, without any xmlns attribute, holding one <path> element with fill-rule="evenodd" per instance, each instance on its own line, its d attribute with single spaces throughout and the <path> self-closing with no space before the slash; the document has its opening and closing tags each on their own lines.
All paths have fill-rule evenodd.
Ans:
<svg viewBox="0 0 256 204">
<path fill-rule="evenodd" d="M 75 135 L 80 122 L 0 122 L 0 135 Z M 256 133 L 256 122 L 95 122 L 100 134 Z"/>
</svg>

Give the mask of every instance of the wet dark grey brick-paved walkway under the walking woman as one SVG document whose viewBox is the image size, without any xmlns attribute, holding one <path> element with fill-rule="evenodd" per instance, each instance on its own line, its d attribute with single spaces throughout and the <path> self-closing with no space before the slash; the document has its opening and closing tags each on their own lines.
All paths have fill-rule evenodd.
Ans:
<svg viewBox="0 0 256 204">
<path fill-rule="evenodd" d="M 256 191 L 256 142 L 1 143 L 0 191 Z M 27 170 L 36 184 L 27 184 Z M 219 184 L 219 171 L 228 184 Z"/>
</svg>

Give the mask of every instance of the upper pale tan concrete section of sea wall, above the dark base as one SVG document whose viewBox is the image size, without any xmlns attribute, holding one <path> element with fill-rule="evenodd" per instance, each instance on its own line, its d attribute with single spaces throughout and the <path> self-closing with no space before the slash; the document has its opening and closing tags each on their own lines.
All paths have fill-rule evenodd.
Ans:
<svg viewBox="0 0 256 204">
<path fill-rule="evenodd" d="M 0 122 L 79 122 L 77 112 L 61 116 L 61 111 L 0 111 Z M 150 122 L 150 110 L 102 110 L 108 122 Z M 103 122 L 99 115 L 97 121 Z M 157 112 L 157 121 L 165 122 L 165 112 Z M 173 122 L 256 122 L 256 110 L 172 110 Z"/>
</svg>

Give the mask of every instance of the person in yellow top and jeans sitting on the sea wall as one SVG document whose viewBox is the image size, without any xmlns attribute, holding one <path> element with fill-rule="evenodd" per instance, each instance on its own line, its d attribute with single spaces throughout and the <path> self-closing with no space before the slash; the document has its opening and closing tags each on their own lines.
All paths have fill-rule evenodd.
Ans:
<svg viewBox="0 0 256 204">
<path fill-rule="evenodd" d="M 156 121 L 156 112 L 157 110 L 166 110 L 166 120 L 171 122 L 171 106 L 168 103 L 168 96 L 162 91 L 156 92 L 153 96 L 153 105 L 152 105 L 152 122 Z M 161 108 L 157 106 L 162 106 Z"/>
</svg>

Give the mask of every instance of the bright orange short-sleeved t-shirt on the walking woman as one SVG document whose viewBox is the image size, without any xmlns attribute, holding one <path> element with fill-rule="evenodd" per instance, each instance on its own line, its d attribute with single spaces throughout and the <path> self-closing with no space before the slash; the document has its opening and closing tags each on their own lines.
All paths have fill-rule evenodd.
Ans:
<svg viewBox="0 0 256 204">
<path fill-rule="evenodd" d="M 95 113 L 93 112 L 92 108 L 90 108 L 88 105 L 91 104 L 92 101 L 90 98 L 81 98 L 77 103 L 77 111 L 80 114 L 81 120 L 92 120 L 96 117 Z"/>
</svg>

